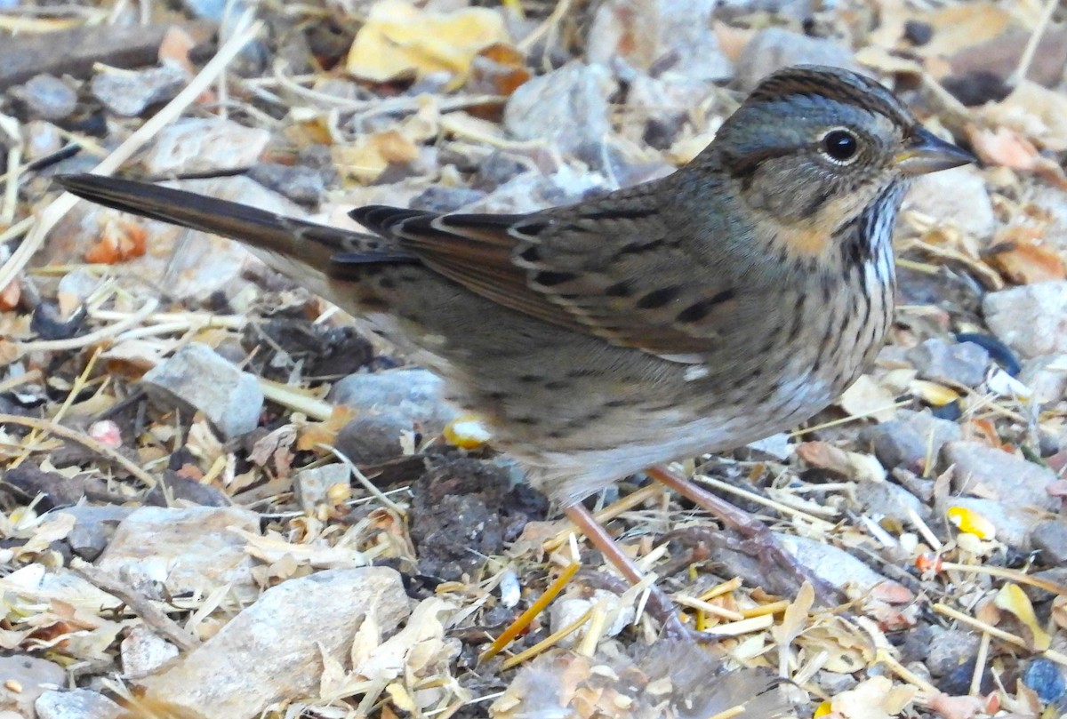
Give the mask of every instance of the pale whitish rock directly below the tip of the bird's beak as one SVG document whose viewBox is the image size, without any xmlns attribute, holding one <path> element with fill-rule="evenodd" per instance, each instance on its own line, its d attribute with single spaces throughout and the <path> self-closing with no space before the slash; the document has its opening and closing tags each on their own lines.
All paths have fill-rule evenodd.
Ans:
<svg viewBox="0 0 1067 719">
<path fill-rule="evenodd" d="M 912 185 L 906 205 L 980 241 L 992 238 L 997 229 L 985 176 L 973 165 L 923 175 Z"/>
</svg>

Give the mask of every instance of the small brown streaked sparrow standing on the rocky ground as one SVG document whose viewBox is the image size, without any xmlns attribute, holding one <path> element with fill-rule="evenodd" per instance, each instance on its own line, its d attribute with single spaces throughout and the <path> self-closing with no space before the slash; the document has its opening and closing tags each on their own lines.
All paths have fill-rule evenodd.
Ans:
<svg viewBox="0 0 1067 719">
<path fill-rule="evenodd" d="M 648 470 L 765 534 L 663 465 L 832 402 L 890 325 L 891 236 L 909 178 L 973 160 L 874 80 L 800 66 L 764 79 L 676 173 L 530 214 L 353 211 L 371 236 L 153 185 L 59 181 L 239 240 L 365 318 L 443 377 L 637 580 L 578 502 Z"/>
</svg>

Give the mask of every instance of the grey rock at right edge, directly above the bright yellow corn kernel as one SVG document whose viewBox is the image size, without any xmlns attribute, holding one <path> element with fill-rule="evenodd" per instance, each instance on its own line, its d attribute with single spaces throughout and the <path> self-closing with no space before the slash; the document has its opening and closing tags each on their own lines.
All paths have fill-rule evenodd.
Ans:
<svg viewBox="0 0 1067 719">
<path fill-rule="evenodd" d="M 998 499 L 1008 507 L 1058 509 L 1048 493 L 1056 481 L 1051 469 L 978 442 L 950 442 L 944 461 L 954 464 L 952 489 L 960 494 Z"/>
</svg>

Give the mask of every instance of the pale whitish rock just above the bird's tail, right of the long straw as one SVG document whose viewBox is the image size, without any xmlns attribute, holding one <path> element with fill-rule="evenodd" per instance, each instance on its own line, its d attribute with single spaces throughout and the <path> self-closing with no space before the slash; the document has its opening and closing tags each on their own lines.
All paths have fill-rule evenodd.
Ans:
<svg viewBox="0 0 1067 719">
<path fill-rule="evenodd" d="M 164 128 L 144 159 L 156 177 L 209 175 L 254 165 L 270 132 L 228 119 L 188 118 Z"/>
</svg>

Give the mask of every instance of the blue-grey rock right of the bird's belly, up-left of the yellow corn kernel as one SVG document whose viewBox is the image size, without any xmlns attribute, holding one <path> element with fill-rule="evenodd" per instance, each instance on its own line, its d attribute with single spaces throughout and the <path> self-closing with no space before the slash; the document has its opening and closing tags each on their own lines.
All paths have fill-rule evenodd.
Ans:
<svg viewBox="0 0 1067 719">
<path fill-rule="evenodd" d="M 956 422 L 909 410 L 899 410 L 896 419 L 860 432 L 860 441 L 870 445 L 883 467 L 904 467 L 918 475 L 925 472 L 927 457 L 936 461 L 946 442 L 961 437 Z"/>
</svg>

